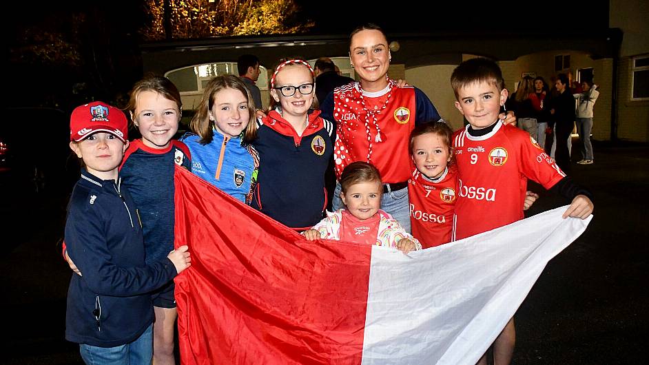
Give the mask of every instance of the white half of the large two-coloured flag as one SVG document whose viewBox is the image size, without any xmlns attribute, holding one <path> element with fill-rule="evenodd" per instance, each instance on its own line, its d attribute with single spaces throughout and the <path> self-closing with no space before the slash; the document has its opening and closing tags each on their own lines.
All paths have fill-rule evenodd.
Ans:
<svg viewBox="0 0 649 365">
<path fill-rule="evenodd" d="M 475 364 L 593 218 L 566 209 L 409 255 L 373 247 L 362 364 Z"/>
</svg>

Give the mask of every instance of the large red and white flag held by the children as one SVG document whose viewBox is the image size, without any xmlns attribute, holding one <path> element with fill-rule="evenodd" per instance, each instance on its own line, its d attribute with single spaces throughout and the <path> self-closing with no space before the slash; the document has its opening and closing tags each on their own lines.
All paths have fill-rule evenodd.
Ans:
<svg viewBox="0 0 649 365">
<path fill-rule="evenodd" d="M 178 168 L 181 362 L 473 365 L 592 218 L 565 210 L 404 255 L 307 241 Z"/>
</svg>

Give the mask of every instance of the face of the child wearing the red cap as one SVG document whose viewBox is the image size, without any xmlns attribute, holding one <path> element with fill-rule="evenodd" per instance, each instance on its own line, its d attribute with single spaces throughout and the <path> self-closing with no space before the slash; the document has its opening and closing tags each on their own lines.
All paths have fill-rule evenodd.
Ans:
<svg viewBox="0 0 649 365">
<path fill-rule="evenodd" d="M 102 180 L 117 178 L 117 167 L 122 162 L 126 147 L 128 141 L 124 143 L 107 132 L 96 132 L 80 142 L 70 142 L 70 149 L 83 159 L 87 171 Z"/>
</svg>

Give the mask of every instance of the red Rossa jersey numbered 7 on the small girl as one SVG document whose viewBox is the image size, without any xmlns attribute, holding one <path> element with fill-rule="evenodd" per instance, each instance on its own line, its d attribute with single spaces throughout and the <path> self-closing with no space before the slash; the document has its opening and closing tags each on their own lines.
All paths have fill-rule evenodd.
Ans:
<svg viewBox="0 0 649 365">
<path fill-rule="evenodd" d="M 451 242 L 453 209 L 457 198 L 455 167 L 451 165 L 436 183 L 415 169 L 408 183 L 413 236 L 424 249 Z"/>
</svg>

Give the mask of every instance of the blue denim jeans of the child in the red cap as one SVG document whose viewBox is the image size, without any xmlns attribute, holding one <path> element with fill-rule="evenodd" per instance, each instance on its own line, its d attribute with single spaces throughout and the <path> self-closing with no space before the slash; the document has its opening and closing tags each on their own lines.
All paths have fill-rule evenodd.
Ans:
<svg viewBox="0 0 649 365">
<path fill-rule="evenodd" d="M 153 357 L 153 324 L 137 340 L 115 347 L 79 345 L 81 358 L 88 365 L 151 364 Z"/>
</svg>

